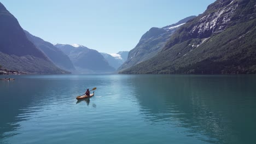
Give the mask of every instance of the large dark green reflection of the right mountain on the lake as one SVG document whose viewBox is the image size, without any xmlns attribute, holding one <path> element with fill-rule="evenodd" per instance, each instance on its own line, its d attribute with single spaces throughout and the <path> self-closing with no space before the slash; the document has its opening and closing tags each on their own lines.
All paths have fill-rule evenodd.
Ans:
<svg viewBox="0 0 256 144">
<path fill-rule="evenodd" d="M 256 140 L 256 83 L 251 78 L 143 75 L 131 81 L 141 114 L 151 124 L 187 128 L 182 131 L 187 136 L 207 142 L 250 143 Z"/>
</svg>

